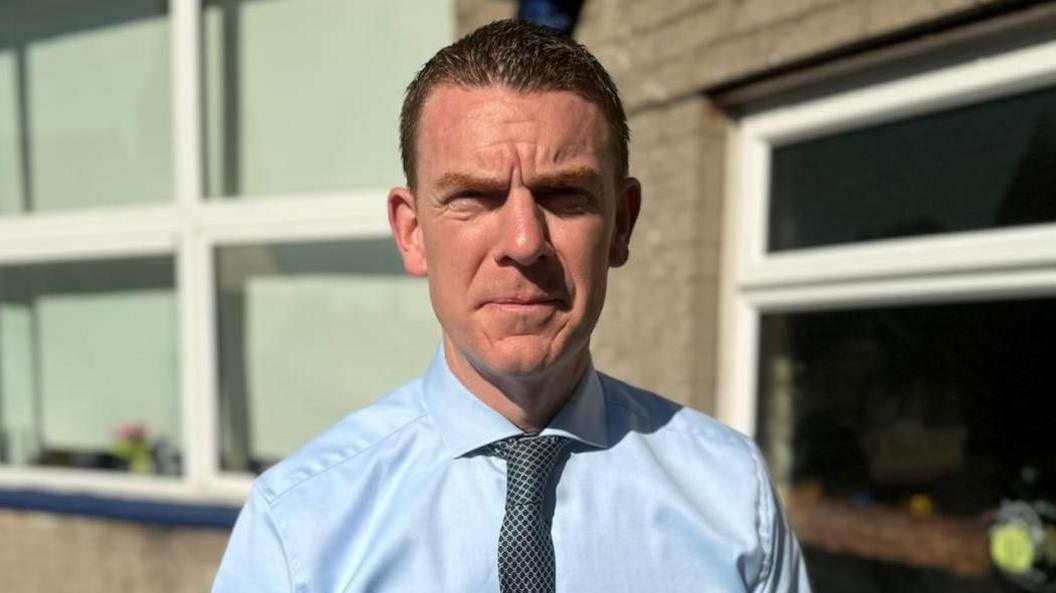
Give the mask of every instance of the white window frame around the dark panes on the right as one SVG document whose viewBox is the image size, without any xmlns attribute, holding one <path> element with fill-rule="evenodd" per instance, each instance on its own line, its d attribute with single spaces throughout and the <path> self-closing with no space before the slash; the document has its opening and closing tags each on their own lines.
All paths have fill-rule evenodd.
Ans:
<svg viewBox="0 0 1056 593">
<path fill-rule="evenodd" d="M 1056 83 L 1056 41 L 744 117 L 727 159 L 717 416 L 754 435 L 759 318 L 1056 294 L 1056 224 L 767 252 L 774 147 Z"/>
</svg>

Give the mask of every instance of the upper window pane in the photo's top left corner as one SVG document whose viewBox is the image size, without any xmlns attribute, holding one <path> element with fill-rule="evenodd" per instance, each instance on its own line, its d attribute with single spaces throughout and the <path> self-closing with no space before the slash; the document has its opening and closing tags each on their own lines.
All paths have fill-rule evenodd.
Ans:
<svg viewBox="0 0 1056 593">
<path fill-rule="evenodd" d="M 166 3 L 0 2 L 0 215 L 172 194 Z"/>
</svg>

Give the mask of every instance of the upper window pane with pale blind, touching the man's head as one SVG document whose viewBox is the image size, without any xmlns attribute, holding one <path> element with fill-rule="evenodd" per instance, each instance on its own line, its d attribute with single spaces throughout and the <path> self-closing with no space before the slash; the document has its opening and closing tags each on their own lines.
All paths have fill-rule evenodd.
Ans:
<svg viewBox="0 0 1056 593">
<path fill-rule="evenodd" d="M 402 183 L 403 88 L 452 40 L 451 0 L 210 0 L 204 12 L 209 195 Z"/>
</svg>

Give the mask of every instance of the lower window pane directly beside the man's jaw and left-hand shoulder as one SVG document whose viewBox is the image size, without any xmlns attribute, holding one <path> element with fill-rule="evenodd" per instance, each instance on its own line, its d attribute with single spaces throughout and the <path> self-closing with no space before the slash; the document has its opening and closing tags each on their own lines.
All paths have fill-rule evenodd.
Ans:
<svg viewBox="0 0 1056 593">
<path fill-rule="evenodd" d="M 391 240 L 218 251 L 223 467 L 262 471 L 420 376 L 439 341 Z"/>
</svg>

